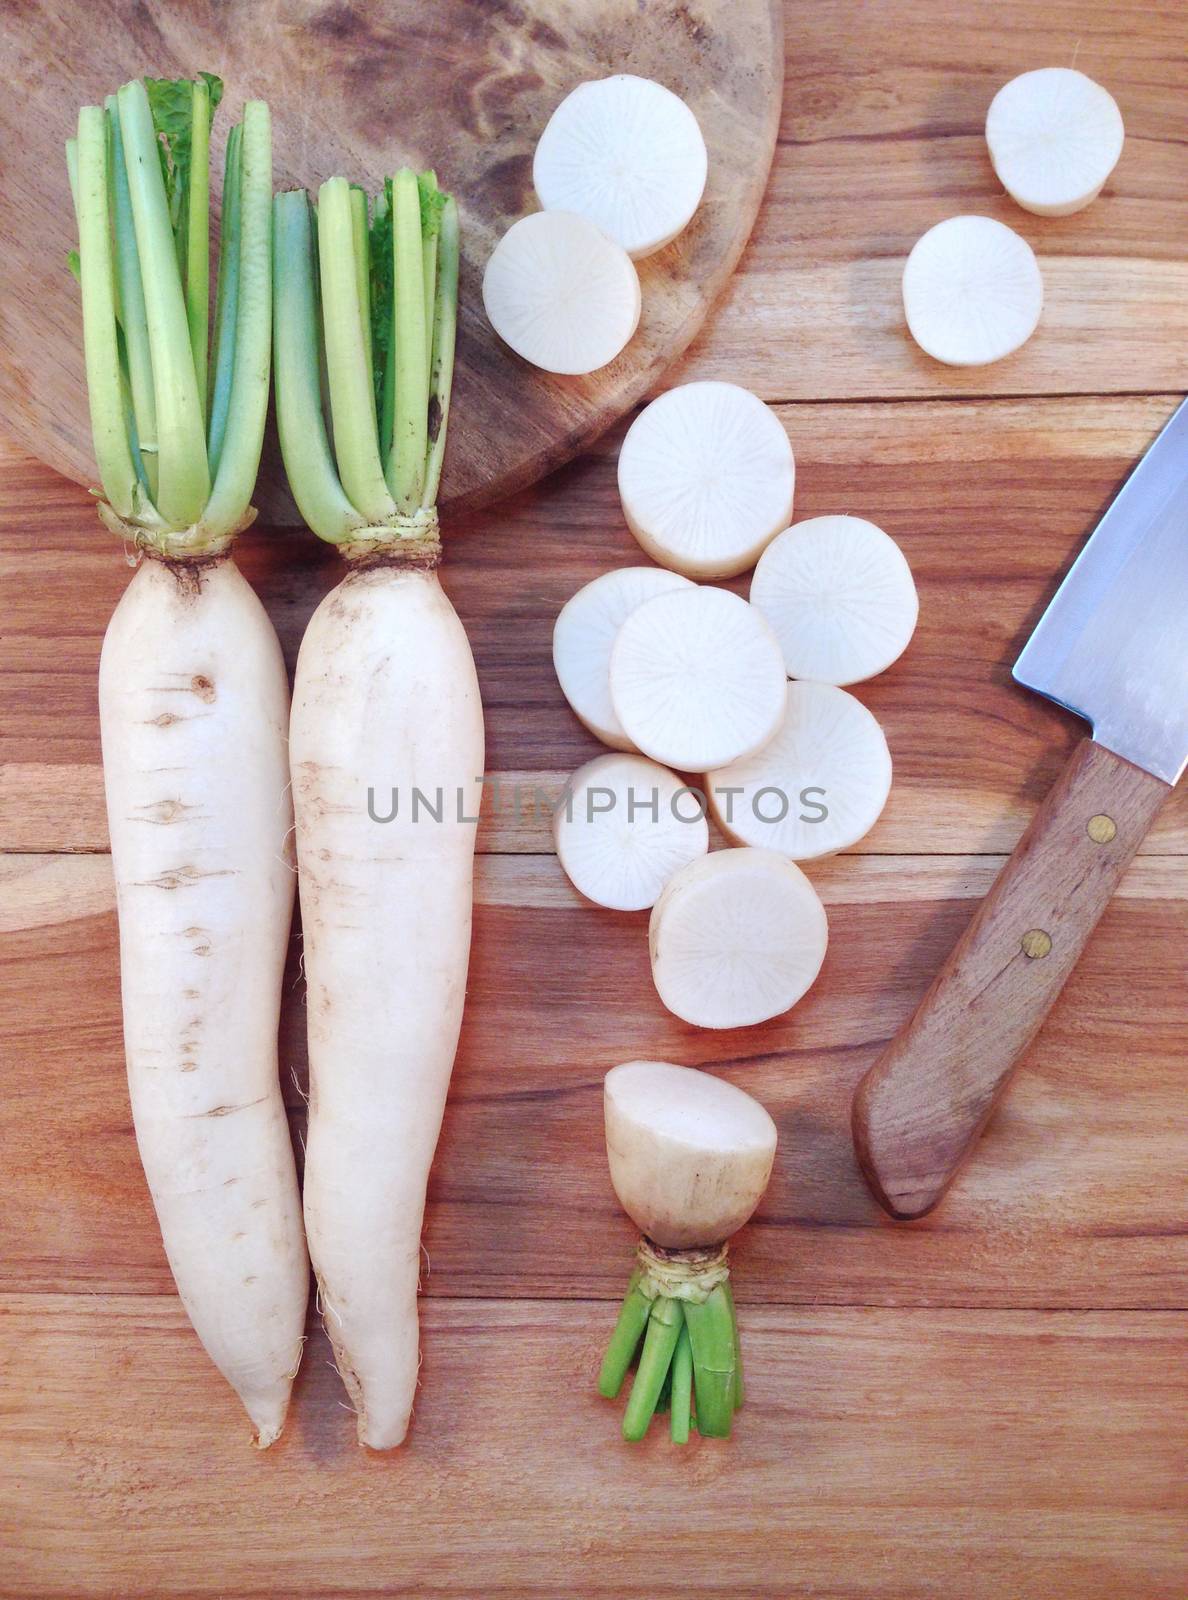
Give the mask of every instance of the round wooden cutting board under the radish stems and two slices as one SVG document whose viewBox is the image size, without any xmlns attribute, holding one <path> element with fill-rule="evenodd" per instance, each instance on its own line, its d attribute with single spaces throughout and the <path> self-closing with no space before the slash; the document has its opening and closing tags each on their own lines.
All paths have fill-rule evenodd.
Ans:
<svg viewBox="0 0 1188 1600">
<path fill-rule="evenodd" d="M 218 72 L 215 187 L 245 98 L 272 106 L 277 187 L 343 173 L 378 187 L 434 166 L 463 218 L 458 376 L 443 501 L 472 507 L 567 461 L 647 392 L 688 344 L 759 210 L 783 88 L 778 0 L 40 0 L 5 6 L 0 104 L 0 397 L 3 426 L 58 470 L 94 482 L 62 147 L 78 106 L 130 77 Z M 484 264 L 536 208 L 532 152 L 554 106 L 610 72 L 658 78 L 709 147 L 690 227 L 642 261 L 644 314 L 624 354 L 589 378 L 512 355 L 482 310 Z M 261 514 L 295 522 L 274 440 Z"/>
</svg>

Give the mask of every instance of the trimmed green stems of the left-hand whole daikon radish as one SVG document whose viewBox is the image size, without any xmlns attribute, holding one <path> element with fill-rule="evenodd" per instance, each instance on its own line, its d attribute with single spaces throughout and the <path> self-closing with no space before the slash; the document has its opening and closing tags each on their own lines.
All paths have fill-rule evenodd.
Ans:
<svg viewBox="0 0 1188 1600">
<path fill-rule="evenodd" d="M 210 126 L 218 78 L 125 83 L 66 147 L 91 432 L 115 531 L 165 555 L 226 547 L 251 517 L 272 346 L 272 131 L 227 139 L 213 366 Z M 208 394 L 210 389 L 210 394 Z M 210 414 L 210 422 L 208 422 Z"/>
</svg>

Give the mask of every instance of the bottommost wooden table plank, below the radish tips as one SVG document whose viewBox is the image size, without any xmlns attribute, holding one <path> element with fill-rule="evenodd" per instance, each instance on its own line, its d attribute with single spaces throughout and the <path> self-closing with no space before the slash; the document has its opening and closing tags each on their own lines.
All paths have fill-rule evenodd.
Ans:
<svg viewBox="0 0 1188 1600">
<path fill-rule="evenodd" d="M 173 1301 L 5 1296 L 0 1586 L 70 1600 L 1183 1592 L 1185 1462 L 1167 1426 L 1188 1405 L 1180 1317 L 743 1302 L 735 1437 L 676 1459 L 663 1434 L 623 1445 L 618 1406 L 594 1392 L 610 1320 L 605 1304 L 431 1302 L 413 1434 L 386 1458 L 355 1446 L 311 1328 L 290 1430 L 259 1456 Z"/>
</svg>

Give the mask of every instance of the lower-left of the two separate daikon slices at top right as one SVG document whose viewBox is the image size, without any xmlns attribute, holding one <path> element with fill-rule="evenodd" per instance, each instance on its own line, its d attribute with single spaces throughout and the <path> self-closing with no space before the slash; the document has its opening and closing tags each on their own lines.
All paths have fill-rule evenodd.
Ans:
<svg viewBox="0 0 1188 1600">
<path fill-rule="evenodd" d="M 948 366 L 985 366 L 1036 331 L 1044 280 L 1031 245 L 991 216 L 951 216 L 916 240 L 903 310 L 922 350 Z"/>
</svg>

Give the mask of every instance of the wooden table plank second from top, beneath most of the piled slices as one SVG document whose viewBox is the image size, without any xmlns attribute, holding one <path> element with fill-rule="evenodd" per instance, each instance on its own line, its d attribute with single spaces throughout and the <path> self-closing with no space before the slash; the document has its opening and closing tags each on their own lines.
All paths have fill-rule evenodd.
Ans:
<svg viewBox="0 0 1188 1600">
<path fill-rule="evenodd" d="M 909 651 L 858 688 L 895 758 L 892 802 L 863 850 L 1013 846 L 1081 725 L 1020 690 L 1010 662 L 1174 405 L 1174 395 L 1150 395 L 781 408 L 797 451 L 797 518 L 874 518 L 901 542 L 921 590 Z M 524 771 L 557 782 L 599 752 L 556 685 L 551 637 L 583 582 L 642 560 L 618 506 L 618 437 L 498 514 L 461 522 L 450 544 L 447 586 L 479 662 L 488 771 L 509 782 Z M 0 848 L 102 850 L 94 677 L 126 568 L 82 491 L 18 451 L 0 467 L 0 696 L 10 707 Z M 291 664 L 338 578 L 335 558 L 309 536 L 251 530 L 242 560 Z M 484 845 L 543 850 L 548 834 L 543 816 L 525 827 L 504 814 Z M 1145 848 L 1188 850 L 1188 794 Z"/>
</svg>

